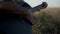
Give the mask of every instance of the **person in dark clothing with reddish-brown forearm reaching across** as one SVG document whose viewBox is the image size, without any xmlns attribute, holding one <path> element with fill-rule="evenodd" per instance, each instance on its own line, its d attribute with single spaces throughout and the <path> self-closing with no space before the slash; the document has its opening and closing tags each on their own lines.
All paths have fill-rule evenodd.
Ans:
<svg viewBox="0 0 60 34">
<path fill-rule="evenodd" d="M 27 10 L 24 7 L 17 6 L 11 0 L 0 3 L 0 29 L 5 34 L 32 34 L 34 16 L 30 8 Z"/>
</svg>

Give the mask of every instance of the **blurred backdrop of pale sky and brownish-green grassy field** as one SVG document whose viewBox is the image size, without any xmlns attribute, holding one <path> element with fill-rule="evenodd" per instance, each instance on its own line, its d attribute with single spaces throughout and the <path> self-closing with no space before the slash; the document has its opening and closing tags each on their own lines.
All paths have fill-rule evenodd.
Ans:
<svg viewBox="0 0 60 34">
<path fill-rule="evenodd" d="M 35 12 L 38 19 L 32 29 L 33 34 L 60 34 L 60 0 L 25 0 L 31 7 L 47 2 L 48 7 Z"/>
</svg>

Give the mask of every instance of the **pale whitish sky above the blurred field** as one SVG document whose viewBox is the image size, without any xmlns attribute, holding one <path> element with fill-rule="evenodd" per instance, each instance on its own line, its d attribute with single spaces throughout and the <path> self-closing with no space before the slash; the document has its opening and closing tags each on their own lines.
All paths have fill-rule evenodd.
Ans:
<svg viewBox="0 0 60 34">
<path fill-rule="evenodd" d="M 31 7 L 41 4 L 43 1 L 48 3 L 48 7 L 60 7 L 60 0 L 24 0 Z"/>
</svg>

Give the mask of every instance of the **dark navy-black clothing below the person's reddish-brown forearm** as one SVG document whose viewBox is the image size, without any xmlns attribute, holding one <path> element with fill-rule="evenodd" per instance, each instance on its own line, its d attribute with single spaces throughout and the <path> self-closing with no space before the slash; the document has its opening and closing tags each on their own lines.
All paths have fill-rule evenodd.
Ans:
<svg viewBox="0 0 60 34">
<path fill-rule="evenodd" d="M 32 24 L 24 16 L 2 11 L 0 12 L 0 33 L 32 34 Z"/>
</svg>

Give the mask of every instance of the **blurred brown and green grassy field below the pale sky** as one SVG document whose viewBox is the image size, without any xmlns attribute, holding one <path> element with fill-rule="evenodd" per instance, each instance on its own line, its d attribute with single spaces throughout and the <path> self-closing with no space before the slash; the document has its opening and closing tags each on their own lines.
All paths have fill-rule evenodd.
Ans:
<svg viewBox="0 0 60 34">
<path fill-rule="evenodd" d="M 33 34 L 60 34 L 60 8 L 46 8 L 36 12 L 38 22 Z"/>
</svg>

